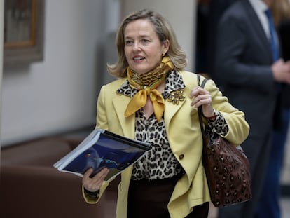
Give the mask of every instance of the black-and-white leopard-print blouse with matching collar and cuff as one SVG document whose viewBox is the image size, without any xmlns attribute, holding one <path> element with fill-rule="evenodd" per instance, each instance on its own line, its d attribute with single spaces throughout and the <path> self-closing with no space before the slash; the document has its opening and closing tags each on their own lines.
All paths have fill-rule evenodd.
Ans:
<svg viewBox="0 0 290 218">
<path fill-rule="evenodd" d="M 172 91 L 183 88 L 185 88 L 185 85 L 181 75 L 178 71 L 172 70 L 167 75 L 162 95 L 166 100 Z M 128 81 L 125 81 L 117 92 L 133 97 L 137 93 L 137 90 L 131 88 Z M 226 135 L 228 125 L 218 111 L 215 111 L 215 113 L 216 118 L 214 121 L 209 122 L 209 127 L 219 135 Z M 166 179 L 181 174 L 183 169 L 170 148 L 164 118 L 160 122 L 157 122 L 153 113 L 146 119 L 143 109 L 139 109 L 135 116 L 135 139 L 150 142 L 153 147 L 151 150 L 146 151 L 139 161 L 134 163 L 131 179 Z"/>
</svg>

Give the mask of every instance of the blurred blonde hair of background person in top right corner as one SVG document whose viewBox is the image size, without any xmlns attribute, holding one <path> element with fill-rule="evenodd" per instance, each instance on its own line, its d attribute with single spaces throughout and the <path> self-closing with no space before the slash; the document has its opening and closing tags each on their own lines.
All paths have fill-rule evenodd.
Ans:
<svg viewBox="0 0 290 218">
<path fill-rule="evenodd" d="M 290 0 L 273 1 L 271 11 L 275 25 L 278 26 L 282 20 L 290 18 Z"/>
</svg>

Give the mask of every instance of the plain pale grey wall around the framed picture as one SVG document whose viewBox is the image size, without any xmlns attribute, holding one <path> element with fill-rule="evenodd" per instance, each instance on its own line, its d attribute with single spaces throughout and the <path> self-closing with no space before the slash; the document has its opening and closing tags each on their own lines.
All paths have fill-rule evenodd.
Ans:
<svg viewBox="0 0 290 218">
<path fill-rule="evenodd" d="M 95 124 L 106 1 L 45 1 L 43 61 L 4 67 L 2 147 Z"/>
</svg>

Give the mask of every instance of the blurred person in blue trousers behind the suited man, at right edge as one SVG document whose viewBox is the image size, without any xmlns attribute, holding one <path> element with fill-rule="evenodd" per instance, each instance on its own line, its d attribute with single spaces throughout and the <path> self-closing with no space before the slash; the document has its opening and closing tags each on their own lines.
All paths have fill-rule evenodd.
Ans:
<svg viewBox="0 0 290 218">
<path fill-rule="evenodd" d="M 280 39 L 282 58 L 290 60 L 290 1 L 275 0 L 271 6 L 272 17 Z M 280 177 L 284 160 L 286 137 L 289 128 L 290 86 L 281 85 L 282 125 L 276 128 L 273 135 L 272 148 L 268 163 L 260 201 L 256 210 L 256 218 L 280 218 Z"/>
</svg>

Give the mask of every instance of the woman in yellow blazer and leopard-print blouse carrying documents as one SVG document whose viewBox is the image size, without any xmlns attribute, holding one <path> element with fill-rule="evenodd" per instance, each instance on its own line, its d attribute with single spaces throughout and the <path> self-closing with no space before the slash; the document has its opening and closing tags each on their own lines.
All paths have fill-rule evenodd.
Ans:
<svg viewBox="0 0 290 218">
<path fill-rule="evenodd" d="M 170 24 L 142 10 L 125 18 L 116 36 L 118 61 L 108 66 L 120 79 L 103 86 L 97 128 L 151 142 L 153 148 L 121 175 L 116 217 L 207 217 L 209 191 L 202 167 L 197 107 L 209 125 L 234 144 L 249 133 L 242 111 L 232 107 L 212 80 L 205 89 L 182 71 L 186 55 Z M 97 203 L 109 185 L 104 169 L 83 176 L 83 196 Z"/>
</svg>

